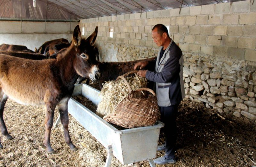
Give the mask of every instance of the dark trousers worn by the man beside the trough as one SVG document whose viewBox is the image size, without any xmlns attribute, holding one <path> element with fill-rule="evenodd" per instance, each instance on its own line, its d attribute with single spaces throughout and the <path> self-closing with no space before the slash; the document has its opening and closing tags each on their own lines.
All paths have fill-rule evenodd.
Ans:
<svg viewBox="0 0 256 167">
<path fill-rule="evenodd" d="M 164 123 L 165 133 L 165 156 L 175 158 L 175 144 L 177 138 L 176 117 L 179 103 L 169 107 L 160 107 L 160 121 Z"/>
</svg>

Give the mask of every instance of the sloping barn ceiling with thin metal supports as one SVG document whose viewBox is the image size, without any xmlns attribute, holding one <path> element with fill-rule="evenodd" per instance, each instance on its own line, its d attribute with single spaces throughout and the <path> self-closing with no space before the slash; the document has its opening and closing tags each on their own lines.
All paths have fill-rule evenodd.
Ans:
<svg viewBox="0 0 256 167">
<path fill-rule="evenodd" d="M 77 21 L 242 0 L 1 0 L 0 20 Z"/>
</svg>

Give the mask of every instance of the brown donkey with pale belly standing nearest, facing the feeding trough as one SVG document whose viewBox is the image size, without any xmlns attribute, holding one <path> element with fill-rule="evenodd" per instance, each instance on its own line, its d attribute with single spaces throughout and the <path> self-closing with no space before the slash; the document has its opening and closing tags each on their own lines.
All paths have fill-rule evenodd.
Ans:
<svg viewBox="0 0 256 167">
<path fill-rule="evenodd" d="M 28 60 L 19 57 L 0 56 L 0 125 L 2 134 L 11 139 L 3 119 L 4 104 L 8 97 L 22 104 L 45 105 L 44 144 L 53 153 L 50 133 L 55 107 L 58 106 L 65 141 L 76 150 L 68 131 L 68 100 L 78 76 L 96 81 L 100 70 L 96 65 L 94 43 L 98 27 L 87 38 L 81 39 L 79 26 L 73 32 L 71 46 L 57 59 Z M 0 147 L 3 146 L 0 144 Z"/>
</svg>

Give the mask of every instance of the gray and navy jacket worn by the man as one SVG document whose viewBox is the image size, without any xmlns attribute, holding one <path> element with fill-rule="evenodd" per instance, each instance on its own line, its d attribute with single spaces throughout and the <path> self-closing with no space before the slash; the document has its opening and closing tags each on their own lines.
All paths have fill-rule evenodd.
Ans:
<svg viewBox="0 0 256 167">
<path fill-rule="evenodd" d="M 161 107 L 179 104 L 185 97 L 183 83 L 183 54 L 175 42 L 171 41 L 163 57 L 159 60 L 160 47 L 155 71 L 147 71 L 146 78 L 156 82 L 157 103 Z"/>
</svg>

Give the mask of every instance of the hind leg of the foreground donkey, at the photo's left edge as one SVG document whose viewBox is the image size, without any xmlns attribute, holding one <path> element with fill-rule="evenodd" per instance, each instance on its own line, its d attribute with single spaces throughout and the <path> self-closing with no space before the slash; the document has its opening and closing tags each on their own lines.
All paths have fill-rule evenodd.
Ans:
<svg viewBox="0 0 256 167">
<path fill-rule="evenodd" d="M 2 94 L 2 96 L 1 96 L 2 98 L 1 98 L 1 101 L 0 101 L 0 126 L 1 126 L 1 132 L 5 136 L 6 139 L 10 140 L 10 139 L 12 139 L 12 136 L 8 133 L 7 128 L 5 126 L 5 123 L 4 123 L 4 118 L 3 118 L 4 105 L 5 105 L 5 102 L 8 99 L 8 96 L 5 95 L 3 92 L 1 94 Z"/>
</svg>

